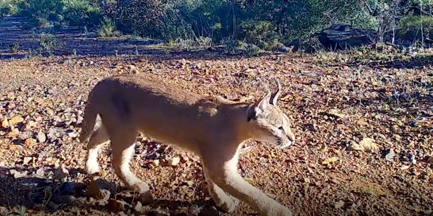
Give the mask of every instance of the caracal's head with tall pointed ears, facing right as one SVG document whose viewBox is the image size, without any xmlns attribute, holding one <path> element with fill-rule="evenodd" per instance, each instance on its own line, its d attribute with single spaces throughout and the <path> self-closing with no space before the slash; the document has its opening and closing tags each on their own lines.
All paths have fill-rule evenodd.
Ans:
<svg viewBox="0 0 433 216">
<path fill-rule="evenodd" d="M 268 94 L 248 108 L 247 121 L 249 133 L 253 139 L 271 142 L 278 147 L 287 147 L 294 143 L 295 135 L 287 115 L 277 106 L 281 85 L 276 80 L 278 90 Z"/>
</svg>

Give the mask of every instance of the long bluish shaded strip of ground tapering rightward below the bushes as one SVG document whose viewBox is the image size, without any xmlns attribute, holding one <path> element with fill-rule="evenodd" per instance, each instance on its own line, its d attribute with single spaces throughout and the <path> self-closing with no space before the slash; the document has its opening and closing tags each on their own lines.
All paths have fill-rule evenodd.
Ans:
<svg viewBox="0 0 433 216">
<path fill-rule="evenodd" d="M 25 58 L 27 56 L 45 54 L 41 53 L 40 33 L 51 33 L 56 36 L 59 45 L 53 49 L 53 55 L 77 55 L 77 56 L 122 56 L 129 55 L 140 57 L 142 55 L 155 55 L 161 58 L 236 58 L 241 54 L 223 54 L 221 47 L 191 48 L 191 50 L 165 50 L 155 46 L 157 43 L 152 40 L 107 38 L 101 39 L 96 36 L 86 36 L 83 31 L 76 28 L 63 29 L 34 29 L 26 30 L 23 26 L 27 23 L 23 17 L 2 17 L 0 18 L 0 59 Z M 19 45 L 16 53 L 12 53 L 11 46 Z M 267 53 L 256 54 L 267 55 Z M 171 56 L 171 57 L 170 57 Z"/>
</svg>

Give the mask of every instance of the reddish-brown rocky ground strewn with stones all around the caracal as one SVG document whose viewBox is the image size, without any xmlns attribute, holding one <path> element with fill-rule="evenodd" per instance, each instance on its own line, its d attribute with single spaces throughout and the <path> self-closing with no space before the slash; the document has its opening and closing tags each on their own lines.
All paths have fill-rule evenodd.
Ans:
<svg viewBox="0 0 433 216">
<path fill-rule="evenodd" d="M 7 53 L 13 40 L 0 35 Z M 143 135 L 131 169 L 152 185 L 153 200 L 123 188 L 108 145 L 98 159 L 103 172 L 85 173 L 76 125 L 93 85 L 119 73 L 228 99 L 258 99 L 260 83 L 278 77 L 296 145 L 248 142 L 238 164 L 248 182 L 301 216 L 433 214 L 431 54 L 91 54 L 3 54 L 2 215 L 258 215 L 245 203 L 218 211 L 197 158 Z"/>
</svg>

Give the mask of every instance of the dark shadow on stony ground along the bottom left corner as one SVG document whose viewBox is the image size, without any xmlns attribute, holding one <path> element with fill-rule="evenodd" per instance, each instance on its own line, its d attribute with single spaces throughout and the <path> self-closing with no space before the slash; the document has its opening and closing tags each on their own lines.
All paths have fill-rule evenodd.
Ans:
<svg viewBox="0 0 433 216">
<path fill-rule="evenodd" d="M 134 191 L 127 190 L 124 187 L 118 187 L 113 182 L 102 180 L 101 178 L 93 181 L 99 187 L 97 193 L 94 191 L 92 183 L 89 182 L 74 182 L 81 173 L 85 173 L 83 169 L 69 169 L 70 176 L 62 181 L 48 179 L 45 176 L 55 176 L 55 168 L 8 168 L 0 167 L 0 207 L 6 211 L 13 211 L 14 208 L 20 209 L 25 207 L 37 213 L 54 213 L 56 211 L 75 211 L 93 209 L 100 213 L 117 214 L 125 208 L 134 209 L 137 201 L 142 201 Z M 10 174 L 9 174 L 10 173 Z M 36 173 L 43 177 L 35 177 L 28 173 Z M 110 192 L 104 192 L 110 191 Z M 93 194 L 93 195 L 92 195 Z M 108 194 L 108 195 L 107 195 Z M 123 207 L 116 204 L 110 204 L 110 201 L 121 200 L 124 203 Z M 116 203 L 116 201 L 112 202 Z M 203 201 L 170 201 L 165 199 L 154 199 L 148 203 L 144 203 L 141 211 L 147 215 L 157 215 L 155 209 L 178 210 L 191 206 L 199 207 L 200 214 L 209 215 L 209 212 L 218 215 L 215 208 L 215 203 L 211 200 Z M 199 214 L 199 215 L 200 215 Z M 170 214 L 173 215 L 173 214 Z M 186 215 L 186 213 L 175 213 L 174 215 Z M 212 214 L 211 214 L 212 215 Z"/>
</svg>

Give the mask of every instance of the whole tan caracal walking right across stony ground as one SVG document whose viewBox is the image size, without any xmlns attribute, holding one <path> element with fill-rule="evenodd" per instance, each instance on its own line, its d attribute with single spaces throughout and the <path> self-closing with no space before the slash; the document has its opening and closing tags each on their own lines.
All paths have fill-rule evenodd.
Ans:
<svg viewBox="0 0 433 216">
<path fill-rule="evenodd" d="M 255 139 L 278 147 L 291 145 L 295 136 L 289 118 L 277 106 L 281 86 L 256 103 L 238 103 L 220 96 L 201 96 L 133 75 L 99 81 L 89 94 L 80 141 L 88 141 L 86 169 L 97 173 L 98 149 L 112 144 L 112 165 L 128 189 L 148 193 L 149 186 L 129 168 L 138 132 L 199 156 L 209 193 L 216 206 L 233 212 L 245 201 L 263 216 L 291 216 L 292 212 L 237 171 L 243 141 Z M 102 124 L 94 130 L 96 116 Z"/>
</svg>

